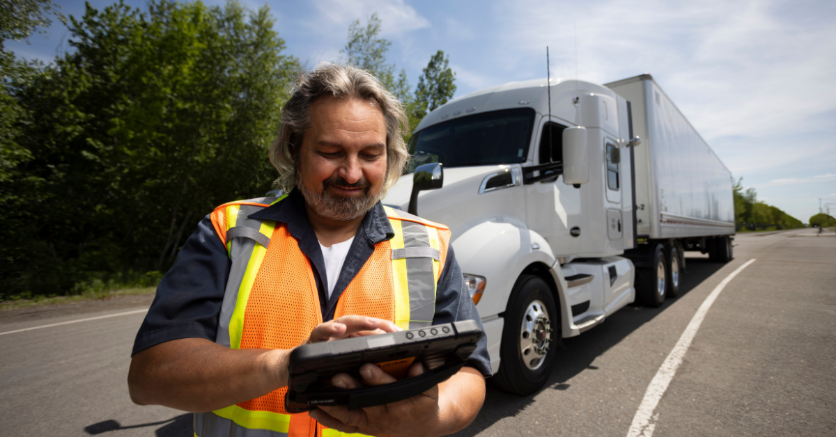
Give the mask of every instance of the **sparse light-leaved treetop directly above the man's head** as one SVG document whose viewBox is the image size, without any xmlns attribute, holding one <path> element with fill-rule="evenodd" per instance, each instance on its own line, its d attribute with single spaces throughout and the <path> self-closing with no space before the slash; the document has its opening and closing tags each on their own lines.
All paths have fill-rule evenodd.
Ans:
<svg viewBox="0 0 836 437">
<path fill-rule="evenodd" d="M 339 53 L 346 56 L 346 63 L 374 74 L 402 104 L 410 104 L 412 94 L 406 71 L 401 69 L 400 73 L 395 74 L 395 64 L 386 64 L 386 53 L 391 45 L 390 40 L 380 38 L 380 18 L 377 13 L 373 13 L 365 27 L 359 19 L 351 23 L 348 41 Z"/>
</svg>

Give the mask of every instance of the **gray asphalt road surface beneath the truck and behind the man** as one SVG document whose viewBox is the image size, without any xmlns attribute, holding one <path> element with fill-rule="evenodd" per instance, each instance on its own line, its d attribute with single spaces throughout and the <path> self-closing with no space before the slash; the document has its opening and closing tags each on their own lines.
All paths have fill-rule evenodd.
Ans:
<svg viewBox="0 0 836 437">
<path fill-rule="evenodd" d="M 706 314 L 654 411 L 653 435 L 836 435 L 836 236 L 744 234 L 737 244 L 726 265 L 689 253 L 678 299 L 626 307 L 566 339 L 537 394 L 489 384 L 482 412 L 457 435 L 627 435 L 697 308 L 752 258 Z M 191 414 L 130 402 L 142 313 L 3 334 L 136 309 L 0 324 L 0 434 L 191 435 Z"/>
</svg>

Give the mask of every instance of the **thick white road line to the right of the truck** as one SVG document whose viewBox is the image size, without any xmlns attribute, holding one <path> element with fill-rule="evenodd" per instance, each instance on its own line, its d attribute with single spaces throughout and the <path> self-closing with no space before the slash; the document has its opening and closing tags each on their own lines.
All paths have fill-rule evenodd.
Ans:
<svg viewBox="0 0 836 437">
<path fill-rule="evenodd" d="M 708 308 L 711 307 L 711 304 L 714 303 L 717 296 L 719 296 L 720 292 L 723 291 L 723 288 L 725 288 L 726 285 L 729 282 L 732 282 L 732 279 L 737 276 L 737 273 L 740 273 L 744 268 L 749 267 L 749 264 L 752 264 L 752 262 L 755 262 L 755 260 L 749 260 L 741 267 L 737 267 L 737 270 L 727 276 L 726 279 L 723 279 L 723 281 L 714 288 L 714 291 L 706 297 L 706 300 L 702 302 L 700 309 L 696 310 L 694 318 L 691 318 L 691 323 L 688 323 L 687 328 L 685 328 L 685 332 L 682 333 L 679 341 L 676 342 L 673 350 L 671 350 L 668 354 L 668 358 L 665 358 L 665 363 L 662 363 L 659 371 L 656 372 L 656 376 L 653 377 L 653 380 L 650 381 L 650 385 L 647 386 L 645 398 L 641 399 L 641 404 L 639 405 L 638 411 L 635 412 L 633 424 L 630 424 L 630 431 L 627 432 L 627 437 L 650 437 L 653 435 L 653 429 L 656 427 L 656 419 L 659 419 L 659 414 L 654 414 L 656 406 L 659 405 L 662 395 L 664 395 L 665 390 L 668 389 L 670 380 L 674 379 L 676 369 L 679 368 L 682 363 L 682 358 L 685 358 L 685 354 L 691 346 L 691 340 L 694 339 L 696 331 L 700 329 L 702 320 L 706 318 Z"/>
</svg>

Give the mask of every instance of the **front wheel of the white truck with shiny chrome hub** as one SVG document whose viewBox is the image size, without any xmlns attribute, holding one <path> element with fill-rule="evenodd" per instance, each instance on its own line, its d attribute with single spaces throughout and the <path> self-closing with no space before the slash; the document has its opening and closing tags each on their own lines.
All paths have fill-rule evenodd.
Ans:
<svg viewBox="0 0 836 437">
<path fill-rule="evenodd" d="M 559 331 L 558 311 L 548 284 L 540 277 L 517 279 L 505 311 L 502 328 L 502 363 L 491 379 L 502 390 L 533 394 L 542 388 L 552 371 L 554 335 Z"/>
</svg>

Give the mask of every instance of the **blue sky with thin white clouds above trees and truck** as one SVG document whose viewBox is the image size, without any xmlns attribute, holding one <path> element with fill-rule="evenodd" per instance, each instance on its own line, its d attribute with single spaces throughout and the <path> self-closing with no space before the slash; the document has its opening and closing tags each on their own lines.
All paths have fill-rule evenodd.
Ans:
<svg viewBox="0 0 836 437">
<path fill-rule="evenodd" d="M 80 16 L 83 2 L 58 1 Z M 93 1 L 95 8 L 113 3 Z M 144 8 L 145 1 L 126 3 Z M 207 4 L 224 1 L 207 0 Z M 247 0 L 248 8 L 264 2 Z M 349 24 L 382 20 L 389 62 L 415 86 L 436 50 L 450 55 L 456 95 L 546 75 L 605 83 L 653 74 L 743 185 L 801 221 L 836 215 L 836 2 L 829 1 L 268 1 L 287 52 L 312 67 L 338 60 Z M 577 30 L 576 30 L 577 29 Z M 54 23 L 24 58 L 67 44 Z"/>
</svg>

